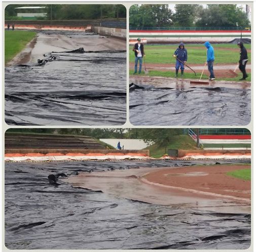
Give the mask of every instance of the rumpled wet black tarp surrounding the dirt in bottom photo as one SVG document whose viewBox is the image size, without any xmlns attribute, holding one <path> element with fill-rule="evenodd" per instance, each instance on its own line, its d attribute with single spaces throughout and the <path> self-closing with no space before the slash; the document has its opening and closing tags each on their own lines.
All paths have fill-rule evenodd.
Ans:
<svg viewBox="0 0 256 252">
<path fill-rule="evenodd" d="M 9 249 L 248 248 L 250 213 L 148 204 L 101 191 L 74 188 L 65 180 L 53 186 L 47 179 L 49 174 L 61 172 L 75 176 L 70 173 L 214 163 L 6 163 L 5 244 Z"/>
</svg>

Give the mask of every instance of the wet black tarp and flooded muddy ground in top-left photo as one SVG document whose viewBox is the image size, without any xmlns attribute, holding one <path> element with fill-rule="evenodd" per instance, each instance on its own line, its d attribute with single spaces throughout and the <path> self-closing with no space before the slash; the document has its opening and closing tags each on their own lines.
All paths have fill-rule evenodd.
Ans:
<svg viewBox="0 0 256 252">
<path fill-rule="evenodd" d="M 85 53 L 66 53 L 79 47 Z M 56 56 L 53 61 L 36 64 L 51 56 Z M 5 69 L 9 125 L 125 123 L 125 41 L 83 32 L 41 32 L 30 59 Z"/>
</svg>

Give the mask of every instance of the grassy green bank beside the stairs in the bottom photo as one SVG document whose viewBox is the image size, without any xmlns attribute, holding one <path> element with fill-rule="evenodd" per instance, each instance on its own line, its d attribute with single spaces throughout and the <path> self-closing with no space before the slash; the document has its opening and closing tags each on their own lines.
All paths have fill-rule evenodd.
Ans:
<svg viewBox="0 0 256 252">
<path fill-rule="evenodd" d="M 172 142 L 167 146 L 167 149 L 196 149 L 196 142 L 189 135 L 174 136 Z M 153 158 L 161 158 L 165 153 L 165 147 L 152 144 L 145 148 L 150 150 L 150 156 Z"/>
</svg>

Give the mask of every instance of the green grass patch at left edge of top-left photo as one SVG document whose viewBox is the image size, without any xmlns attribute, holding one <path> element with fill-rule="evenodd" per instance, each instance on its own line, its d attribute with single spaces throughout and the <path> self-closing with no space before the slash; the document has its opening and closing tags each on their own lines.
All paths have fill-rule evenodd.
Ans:
<svg viewBox="0 0 256 252">
<path fill-rule="evenodd" d="M 5 63 L 20 53 L 35 35 L 34 31 L 5 31 Z"/>
</svg>

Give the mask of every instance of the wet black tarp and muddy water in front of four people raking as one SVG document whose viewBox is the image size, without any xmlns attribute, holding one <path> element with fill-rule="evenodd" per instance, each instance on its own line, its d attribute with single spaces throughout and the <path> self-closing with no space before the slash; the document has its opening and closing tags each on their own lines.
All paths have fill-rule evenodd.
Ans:
<svg viewBox="0 0 256 252">
<path fill-rule="evenodd" d="M 130 122 L 133 125 L 247 125 L 251 91 L 248 83 L 130 78 Z M 135 85 L 132 85 L 135 84 Z"/>
</svg>

